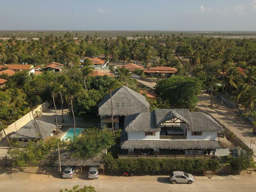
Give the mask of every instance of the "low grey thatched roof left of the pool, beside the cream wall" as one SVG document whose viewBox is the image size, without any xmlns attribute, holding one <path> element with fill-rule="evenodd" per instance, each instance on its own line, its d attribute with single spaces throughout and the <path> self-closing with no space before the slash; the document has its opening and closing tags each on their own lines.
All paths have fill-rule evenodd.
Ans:
<svg viewBox="0 0 256 192">
<path fill-rule="evenodd" d="M 46 123 L 44 121 L 37 121 L 37 124 L 40 128 L 42 138 L 50 136 L 50 133 L 56 128 L 54 124 Z M 12 139 L 18 140 L 38 140 L 41 139 L 39 135 L 38 128 L 34 120 L 31 120 L 26 125 L 21 127 L 18 131 L 10 136 Z"/>
</svg>

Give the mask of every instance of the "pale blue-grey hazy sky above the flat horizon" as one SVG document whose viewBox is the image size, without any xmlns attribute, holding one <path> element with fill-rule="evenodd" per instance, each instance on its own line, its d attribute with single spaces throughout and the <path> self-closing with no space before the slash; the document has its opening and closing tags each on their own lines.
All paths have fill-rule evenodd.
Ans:
<svg viewBox="0 0 256 192">
<path fill-rule="evenodd" d="M 256 31 L 256 0 L 0 0 L 0 30 Z"/>
</svg>

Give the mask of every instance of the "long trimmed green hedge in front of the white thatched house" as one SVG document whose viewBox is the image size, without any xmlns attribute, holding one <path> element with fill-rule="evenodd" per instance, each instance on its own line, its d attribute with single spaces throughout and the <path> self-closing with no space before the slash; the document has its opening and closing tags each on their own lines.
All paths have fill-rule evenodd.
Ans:
<svg viewBox="0 0 256 192">
<path fill-rule="evenodd" d="M 218 169 L 220 162 L 216 159 L 114 159 L 108 153 L 104 156 L 105 169 L 107 171 L 123 170 L 134 171 L 202 171 L 204 169 Z"/>
</svg>

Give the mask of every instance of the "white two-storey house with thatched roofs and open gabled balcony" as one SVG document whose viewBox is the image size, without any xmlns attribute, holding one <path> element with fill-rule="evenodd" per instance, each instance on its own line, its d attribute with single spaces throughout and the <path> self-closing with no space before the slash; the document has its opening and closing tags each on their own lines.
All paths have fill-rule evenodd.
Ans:
<svg viewBox="0 0 256 192">
<path fill-rule="evenodd" d="M 218 139 L 223 128 L 214 119 L 189 109 L 155 109 L 126 116 L 121 149 L 128 153 L 226 156 L 227 140 Z M 224 142 L 225 141 L 225 142 Z"/>
</svg>

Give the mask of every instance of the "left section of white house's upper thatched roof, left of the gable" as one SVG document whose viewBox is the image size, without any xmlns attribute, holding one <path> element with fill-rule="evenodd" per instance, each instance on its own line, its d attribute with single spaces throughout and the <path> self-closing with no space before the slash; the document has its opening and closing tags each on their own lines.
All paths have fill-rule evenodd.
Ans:
<svg viewBox="0 0 256 192">
<path fill-rule="evenodd" d="M 150 112 L 126 116 L 124 118 L 124 127 L 126 132 L 161 131 L 160 127 L 156 126 L 155 114 Z"/>
</svg>

